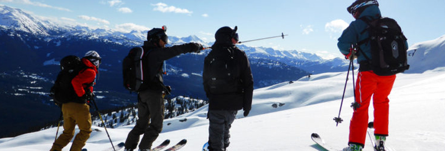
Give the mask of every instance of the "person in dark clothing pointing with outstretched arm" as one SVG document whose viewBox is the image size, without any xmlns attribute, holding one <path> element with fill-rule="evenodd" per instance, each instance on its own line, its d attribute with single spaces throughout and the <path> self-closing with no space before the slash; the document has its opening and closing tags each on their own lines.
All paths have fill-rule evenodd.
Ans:
<svg viewBox="0 0 445 151">
<path fill-rule="evenodd" d="M 164 120 L 164 96 L 169 94 L 171 89 L 165 86 L 162 79 L 163 61 L 181 53 L 199 53 L 203 47 L 198 43 L 186 43 L 165 47 L 168 37 L 165 34 L 166 27 L 153 28 L 148 31 L 147 41 L 144 41 L 144 52 L 147 57 L 142 59 L 144 70 L 144 83 L 138 92 L 138 117 L 136 126 L 128 133 L 125 140 L 125 150 L 133 150 L 142 137 L 139 150 L 150 150 L 152 143 L 162 131 Z M 148 79 L 148 80 L 147 80 Z"/>
</svg>

